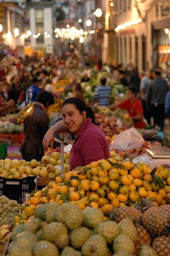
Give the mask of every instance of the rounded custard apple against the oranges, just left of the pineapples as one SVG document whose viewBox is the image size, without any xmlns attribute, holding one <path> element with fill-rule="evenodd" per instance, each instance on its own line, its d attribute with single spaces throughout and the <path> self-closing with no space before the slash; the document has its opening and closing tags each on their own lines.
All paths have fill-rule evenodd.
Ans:
<svg viewBox="0 0 170 256">
<path fill-rule="evenodd" d="M 97 224 L 103 221 L 104 214 L 101 210 L 92 207 L 85 208 L 83 211 L 83 224 L 86 227 L 94 228 Z"/>
</svg>

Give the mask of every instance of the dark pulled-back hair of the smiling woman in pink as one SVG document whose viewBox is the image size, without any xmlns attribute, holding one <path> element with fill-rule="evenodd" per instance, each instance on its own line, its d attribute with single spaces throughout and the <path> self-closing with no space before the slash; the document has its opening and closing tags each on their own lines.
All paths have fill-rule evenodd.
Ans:
<svg viewBox="0 0 170 256">
<path fill-rule="evenodd" d="M 92 123 L 94 123 L 95 125 L 99 125 L 98 123 L 95 122 L 94 112 L 91 109 L 91 107 L 86 105 L 85 102 L 83 102 L 81 99 L 76 97 L 68 98 L 62 103 L 61 108 L 66 104 L 73 104 L 79 110 L 80 113 L 82 113 L 82 111 L 85 111 L 86 117 L 91 118 Z"/>
</svg>

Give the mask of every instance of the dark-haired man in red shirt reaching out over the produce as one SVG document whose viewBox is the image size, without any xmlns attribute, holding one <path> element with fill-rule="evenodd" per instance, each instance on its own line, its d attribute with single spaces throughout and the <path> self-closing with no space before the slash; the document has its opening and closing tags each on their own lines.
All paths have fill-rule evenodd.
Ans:
<svg viewBox="0 0 170 256">
<path fill-rule="evenodd" d="M 133 119 L 135 128 L 145 128 L 146 124 L 143 121 L 143 106 L 142 102 L 136 98 L 136 88 L 130 87 L 127 89 L 127 99 L 118 105 L 111 105 L 109 108 L 115 110 L 116 108 L 126 109 Z"/>
</svg>

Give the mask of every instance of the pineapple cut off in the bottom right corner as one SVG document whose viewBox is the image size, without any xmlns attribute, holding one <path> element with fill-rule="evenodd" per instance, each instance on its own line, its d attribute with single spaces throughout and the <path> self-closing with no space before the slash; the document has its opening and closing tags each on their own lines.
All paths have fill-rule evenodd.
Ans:
<svg viewBox="0 0 170 256">
<path fill-rule="evenodd" d="M 153 249 L 158 256 L 170 255 L 170 236 L 159 236 L 153 240 Z"/>
</svg>

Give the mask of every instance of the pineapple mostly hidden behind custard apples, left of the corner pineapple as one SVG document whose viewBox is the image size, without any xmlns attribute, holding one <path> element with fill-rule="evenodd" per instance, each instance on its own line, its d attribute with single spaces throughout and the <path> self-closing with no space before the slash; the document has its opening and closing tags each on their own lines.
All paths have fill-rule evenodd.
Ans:
<svg viewBox="0 0 170 256">
<path fill-rule="evenodd" d="M 136 230 L 138 233 L 138 237 L 137 237 L 137 241 L 135 243 L 135 255 L 138 255 L 138 251 L 139 251 L 139 248 L 141 247 L 141 245 L 143 245 L 143 244 L 150 245 L 151 239 L 150 239 L 149 234 L 143 227 L 137 226 Z"/>
</svg>

